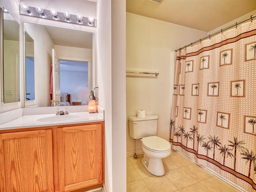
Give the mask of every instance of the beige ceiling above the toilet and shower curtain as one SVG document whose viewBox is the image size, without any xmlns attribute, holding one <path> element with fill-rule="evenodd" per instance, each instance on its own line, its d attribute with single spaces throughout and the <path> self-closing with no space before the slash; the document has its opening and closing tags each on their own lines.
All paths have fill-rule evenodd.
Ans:
<svg viewBox="0 0 256 192">
<path fill-rule="evenodd" d="M 126 12 L 210 32 L 256 10 L 256 0 L 126 0 Z"/>
</svg>

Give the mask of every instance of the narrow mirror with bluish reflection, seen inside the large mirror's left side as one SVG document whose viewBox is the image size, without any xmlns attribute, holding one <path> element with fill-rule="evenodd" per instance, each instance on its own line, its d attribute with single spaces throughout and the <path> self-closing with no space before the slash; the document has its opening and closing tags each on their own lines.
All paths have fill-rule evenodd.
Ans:
<svg viewBox="0 0 256 192">
<path fill-rule="evenodd" d="M 26 101 L 35 99 L 34 40 L 25 32 Z"/>
</svg>

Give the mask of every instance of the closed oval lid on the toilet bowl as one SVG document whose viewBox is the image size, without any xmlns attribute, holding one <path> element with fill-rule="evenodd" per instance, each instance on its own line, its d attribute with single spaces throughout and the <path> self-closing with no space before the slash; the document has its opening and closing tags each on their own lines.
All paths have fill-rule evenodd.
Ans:
<svg viewBox="0 0 256 192">
<path fill-rule="evenodd" d="M 146 148 L 156 151 L 167 151 L 170 150 L 171 144 L 158 136 L 150 136 L 142 138 L 142 144 Z"/>
</svg>

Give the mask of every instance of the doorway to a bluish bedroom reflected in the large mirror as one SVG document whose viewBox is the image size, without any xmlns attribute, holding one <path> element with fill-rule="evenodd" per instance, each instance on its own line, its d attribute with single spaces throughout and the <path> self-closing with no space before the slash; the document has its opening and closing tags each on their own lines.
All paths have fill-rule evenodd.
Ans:
<svg viewBox="0 0 256 192">
<path fill-rule="evenodd" d="M 70 94 L 71 105 L 88 104 L 88 74 L 88 62 L 60 60 L 60 93 Z"/>
</svg>

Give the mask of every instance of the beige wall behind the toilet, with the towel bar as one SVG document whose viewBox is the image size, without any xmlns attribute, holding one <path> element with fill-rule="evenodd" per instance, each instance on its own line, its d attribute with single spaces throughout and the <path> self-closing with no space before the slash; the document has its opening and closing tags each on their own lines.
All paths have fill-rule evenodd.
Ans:
<svg viewBox="0 0 256 192">
<path fill-rule="evenodd" d="M 176 24 L 126 13 L 126 68 L 157 71 L 157 78 L 126 77 L 126 155 L 134 154 L 134 140 L 129 135 L 128 116 L 137 110 L 156 114 L 158 136 L 168 140 L 172 104 L 172 51 L 206 36 L 206 32 Z M 136 140 L 137 153 L 142 152 Z"/>
</svg>

